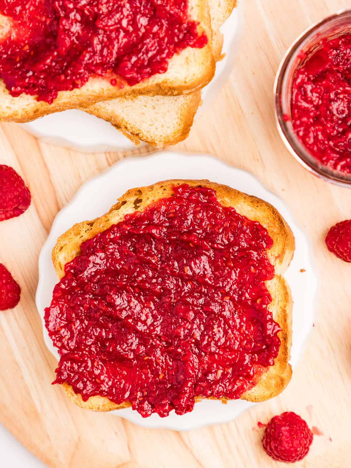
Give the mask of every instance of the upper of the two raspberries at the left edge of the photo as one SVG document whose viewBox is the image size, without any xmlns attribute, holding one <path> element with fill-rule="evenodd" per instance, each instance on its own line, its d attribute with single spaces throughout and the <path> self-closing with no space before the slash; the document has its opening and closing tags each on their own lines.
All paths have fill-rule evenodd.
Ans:
<svg viewBox="0 0 351 468">
<path fill-rule="evenodd" d="M 30 205 L 30 192 L 15 169 L 0 164 L 0 221 L 15 218 Z"/>
</svg>

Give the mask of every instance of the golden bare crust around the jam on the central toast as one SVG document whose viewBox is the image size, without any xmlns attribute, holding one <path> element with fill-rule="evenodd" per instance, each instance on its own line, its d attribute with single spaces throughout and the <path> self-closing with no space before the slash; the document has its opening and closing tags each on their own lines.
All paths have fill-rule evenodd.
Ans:
<svg viewBox="0 0 351 468">
<path fill-rule="evenodd" d="M 292 370 L 289 364 L 290 349 L 292 344 L 292 296 L 291 291 L 283 278 L 283 274 L 289 266 L 295 249 L 295 240 L 290 227 L 280 213 L 269 203 L 260 198 L 247 195 L 227 185 L 222 185 L 208 180 L 168 180 L 158 182 L 148 187 L 139 187 L 128 190 L 109 212 L 91 221 L 83 221 L 75 224 L 71 229 L 62 234 L 52 250 L 52 262 L 59 278 L 64 276 L 66 263 L 80 254 L 82 242 L 91 239 L 96 234 L 108 229 L 124 219 L 126 214 L 135 211 L 143 211 L 148 205 L 160 198 L 171 197 L 173 186 L 183 183 L 191 187 L 208 187 L 215 190 L 219 203 L 223 206 L 231 206 L 241 215 L 251 220 L 258 221 L 268 231 L 273 240 L 273 246 L 267 251 L 270 262 L 275 267 L 275 277 L 267 281 L 266 285 L 271 293 L 272 302 L 268 307 L 273 314 L 273 319 L 279 323 L 281 331 L 278 336 L 281 341 L 274 365 L 260 376 L 255 387 L 241 395 L 241 399 L 250 402 L 263 402 L 281 393 L 291 379 Z M 131 406 L 129 402 L 117 405 L 104 396 L 92 396 L 86 402 L 80 394 L 76 394 L 73 388 L 63 384 L 66 395 L 78 406 L 94 411 L 110 411 Z M 195 401 L 201 401 L 202 397 L 196 397 Z M 213 398 L 212 398 L 213 399 Z M 225 400 L 225 398 L 223 399 Z"/>
</svg>

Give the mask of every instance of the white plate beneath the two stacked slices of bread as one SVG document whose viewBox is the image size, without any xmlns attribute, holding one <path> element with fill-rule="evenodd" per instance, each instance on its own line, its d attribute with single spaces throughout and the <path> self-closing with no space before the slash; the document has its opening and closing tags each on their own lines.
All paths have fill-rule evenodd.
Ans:
<svg viewBox="0 0 351 468">
<path fill-rule="evenodd" d="M 199 114 L 216 96 L 233 68 L 234 57 L 242 36 L 243 11 L 244 0 L 239 0 L 220 29 L 224 35 L 223 53 L 226 56 L 218 62 L 213 80 L 204 88 L 204 104 L 200 107 Z M 135 148 L 134 144 L 109 122 L 81 110 L 65 110 L 19 125 L 46 143 L 85 153 L 129 151 Z"/>
</svg>

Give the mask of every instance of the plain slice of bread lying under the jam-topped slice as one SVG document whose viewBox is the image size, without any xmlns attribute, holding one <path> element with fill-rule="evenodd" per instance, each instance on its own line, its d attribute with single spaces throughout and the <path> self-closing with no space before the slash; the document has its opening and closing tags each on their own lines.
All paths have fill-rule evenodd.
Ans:
<svg viewBox="0 0 351 468">
<path fill-rule="evenodd" d="M 223 35 L 220 26 L 232 13 L 236 0 L 209 0 L 212 50 L 220 59 Z M 127 96 L 102 101 L 84 110 L 121 130 L 133 143 L 145 141 L 156 147 L 175 145 L 187 138 L 193 124 L 201 93 L 180 96 Z"/>
</svg>

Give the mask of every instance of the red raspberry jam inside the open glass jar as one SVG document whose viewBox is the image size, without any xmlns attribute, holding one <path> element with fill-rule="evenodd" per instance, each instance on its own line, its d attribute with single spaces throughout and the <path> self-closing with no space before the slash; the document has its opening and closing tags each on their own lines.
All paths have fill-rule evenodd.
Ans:
<svg viewBox="0 0 351 468">
<path fill-rule="evenodd" d="M 292 86 L 292 124 L 308 151 L 351 173 L 351 35 L 307 54 Z"/>
</svg>

